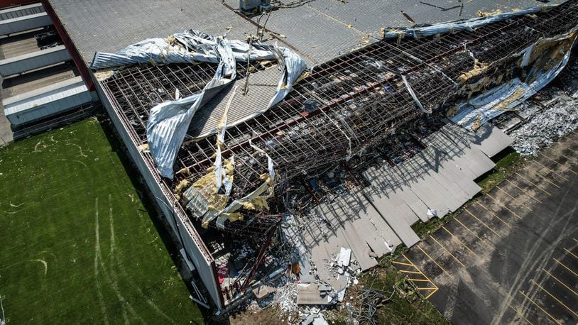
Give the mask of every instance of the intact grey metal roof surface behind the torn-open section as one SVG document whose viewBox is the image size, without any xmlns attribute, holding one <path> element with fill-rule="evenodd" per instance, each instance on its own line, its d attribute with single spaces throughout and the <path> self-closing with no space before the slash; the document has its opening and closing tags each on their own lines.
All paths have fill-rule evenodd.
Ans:
<svg viewBox="0 0 578 325">
<path fill-rule="evenodd" d="M 243 39 L 256 33 L 256 26 L 231 10 L 239 1 L 226 0 L 49 0 L 60 21 L 87 62 L 94 52 L 116 52 L 146 38 L 165 37 L 194 28 L 205 33 L 222 34 L 230 28 L 229 38 Z M 283 0 L 281 2 L 295 2 Z M 273 11 L 266 28 L 277 33 L 279 45 L 297 50 L 309 65 L 332 59 L 351 48 L 373 42 L 383 27 L 411 26 L 404 11 L 415 23 L 437 23 L 472 18 L 478 11 L 512 11 L 539 5 L 535 0 L 313 0 Z M 557 4 L 562 0 L 550 1 Z M 258 16 L 252 18 L 257 21 Z M 264 18 L 261 23 L 264 22 Z M 280 36 L 281 35 L 281 36 Z M 368 37 L 368 35 L 370 35 Z"/>
</svg>

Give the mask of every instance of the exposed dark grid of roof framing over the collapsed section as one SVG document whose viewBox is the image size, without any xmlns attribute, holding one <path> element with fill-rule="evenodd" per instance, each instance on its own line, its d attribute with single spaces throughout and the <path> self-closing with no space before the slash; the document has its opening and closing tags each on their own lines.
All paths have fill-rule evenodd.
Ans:
<svg viewBox="0 0 578 325">
<path fill-rule="evenodd" d="M 577 1 L 535 12 L 505 16 L 507 19 L 476 26 L 473 31 L 427 38 L 386 38 L 315 67 L 273 109 L 222 128 L 222 143 L 217 136 L 186 141 L 178 152 L 176 178 L 167 182 L 175 192 L 183 194 L 180 204 L 187 206 L 195 219 L 200 219 L 205 216 L 205 209 L 199 209 L 198 199 L 205 200 L 202 204 L 208 206 L 208 211 L 215 208 L 217 201 L 209 199 L 214 195 L 228 192 L 226 202 L 219 203 L 221 206 L 255 193 L 261 197 L 268 190 L 263 189 L 263 184 L 271 186 L 274 182 L 275 177 L 268 173 L 271 163 L 282 180 L 315 175 L 327 166 L 346 163 L 352 155 L 375 145 L 390 131 L 423 114 L 422 111 L 432 111 L 449 101 L 467 99 L 528 75 L 531 65 L 520 65 L 520 53 L 528 53 L 528 48 L 538 44 L 538 40 L 573 41 L 575 34 L 568 31 L 577 24 Z M 396 35 L 400 33 L 403 32 Z M 562 49 L 567 50 L 567 45 Z M 558 60 L 555 65 L 565 54 L 552 58 Z M 538 60 L 530 57 L 531 62 Z M 246 67 L 236 68 L 237 79 L 246 75 Z M 250 67 L 265 68 L 259 62 Z M 177 89 L 185 96 L 201 92 L 214 72 L 214 65 L 206 63 L 141 65 L 121 70 L 103 83 L 135 126 L 136 136 L 145 143 L 151 103 L 174 100 Z M 230 95 L 239 96 L 243 95 L 240 92 Z M 219 150 L 222 160 L 227 160 L 226 173 L 233 180 L 230 192 L 223 188 L 216 193 L 194 193 L 202 192 L 199 181 L 214 172 L 207 169 L 214 165 Z M 240 211 L 264 209 L 263 198 L 253 201 L 256 197 Z M 220 226 L 235 228 L 233 225 L 238 224 L 229 221 Z M 212 219 L 207 226 L 216 226 L 216 221 Z"/>
</svg>

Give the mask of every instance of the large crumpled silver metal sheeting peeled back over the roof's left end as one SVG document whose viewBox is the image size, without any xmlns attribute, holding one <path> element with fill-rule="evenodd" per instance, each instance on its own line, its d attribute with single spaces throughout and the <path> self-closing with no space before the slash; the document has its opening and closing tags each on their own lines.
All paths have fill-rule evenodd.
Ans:
<svg viewBox="0 0 578 325">
<path fill-rule="evenodd" d="M 268 107 L 276 105 L 291 91 L 306 70 L 305 61 L 287 48 L 261 44 L 200 31 L 177 33 L 169 38 L 151 38 L 130 45 L 119 53 L 96 53 L 92 70 L 124 65 L 210 62 L 219 65 L 213 79 L 199 94 L 175 101 L 165 101 L 151 109 L 147 139 L 151 155 L 163 177 L 173 178 L 173 165 L 192 117 L 236 77 L 236 62 L 276 59 L 282 70 L 277 92 Z"/>
</svg>

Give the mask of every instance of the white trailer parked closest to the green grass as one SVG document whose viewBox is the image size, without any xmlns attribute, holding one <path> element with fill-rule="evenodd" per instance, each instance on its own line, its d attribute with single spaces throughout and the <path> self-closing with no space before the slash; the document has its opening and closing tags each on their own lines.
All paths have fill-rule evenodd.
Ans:
<svg viewBox="0 0 578 325">
<path fill-rule="evenodd" d="M 59 114 L 93 100 L 82 77 L 75 77 L 2 100 L 4 114 L 13 125 Z"/>
</svg>

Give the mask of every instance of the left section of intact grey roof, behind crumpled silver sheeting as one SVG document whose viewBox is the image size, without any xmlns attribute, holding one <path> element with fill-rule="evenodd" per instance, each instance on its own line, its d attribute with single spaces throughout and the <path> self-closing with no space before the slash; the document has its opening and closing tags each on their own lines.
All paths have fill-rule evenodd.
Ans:
<svg viewBox="0 0 578 325">
<path fill-rule="evenodd" d="M 190 28 L 229 38 L 256 33 L 249 21 L 211 0 L 50 0 L 84 60 L 116 52 L 146 38 L 166 37 Z"/>
</svg>

